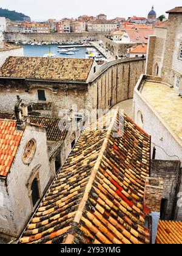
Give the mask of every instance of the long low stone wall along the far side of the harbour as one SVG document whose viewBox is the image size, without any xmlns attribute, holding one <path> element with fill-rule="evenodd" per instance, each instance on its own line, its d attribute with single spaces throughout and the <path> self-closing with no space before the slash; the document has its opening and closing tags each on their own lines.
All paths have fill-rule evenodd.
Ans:
<svg viewBox="0 0 182 256">
<path fill-rule="evenodd" d="M 83 33 L 19 33 L 4 32 L 5 41 L 83 41 L 83 40 L 103 40 L 104 32 L 83 32 Z"/>
</svg>

